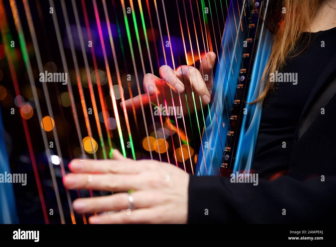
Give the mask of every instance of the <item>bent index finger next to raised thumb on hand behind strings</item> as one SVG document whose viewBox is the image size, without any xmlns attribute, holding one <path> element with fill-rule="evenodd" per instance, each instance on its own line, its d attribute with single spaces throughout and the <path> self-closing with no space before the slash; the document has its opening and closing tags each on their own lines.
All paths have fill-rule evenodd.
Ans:
<svg viewBox="0 0 336 247">
<path fill-rule="evenodd" d="M 179 67 L 176 74 L 181 77 L 183 76 L 187 80 L 187 83 L 191 82 L 194 92 L 201 96 L 204 104 L 210 102 L 209 90 L 203 81 L 201 73 L 195 67 L 183 65 Z"/>
</svg>

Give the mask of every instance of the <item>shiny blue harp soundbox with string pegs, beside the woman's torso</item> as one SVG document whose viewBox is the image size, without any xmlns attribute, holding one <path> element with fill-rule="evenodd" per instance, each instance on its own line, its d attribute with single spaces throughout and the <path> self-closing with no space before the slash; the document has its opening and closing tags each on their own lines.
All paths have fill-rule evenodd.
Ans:
<svg viewBox="0 0 336 247">
<path fill-rule="evenodd" d="M 214 74 L 214 93 L 224 105 L 220 108 L 212 104 L 207 116 L 206 128 L 210 136 L 207 139 L 203 136 L 202 143 L 208 140 L 209 152 L 199 153 L 198 175 L 229 176 L 237 171 L 250 172 L 261 106 L 246 103 L 252 102 L 259 94 L 259 82 L 271 51 L 272 34 L 258 15 L 261 8 L 267 11 L 268 1 L 240 3 L 236 8 L 230 5 L 228 9 L 222 54 Z M 263 12 L 264 19 L 266 11 Z M 217 121 L 222 124 L 211 131 L 216 111 L 222 112 L 219 117 L 217 115 Z M 214 147 L 219 143 L 221 152 L 217 149 L 216 153 Z"/>
</svg>

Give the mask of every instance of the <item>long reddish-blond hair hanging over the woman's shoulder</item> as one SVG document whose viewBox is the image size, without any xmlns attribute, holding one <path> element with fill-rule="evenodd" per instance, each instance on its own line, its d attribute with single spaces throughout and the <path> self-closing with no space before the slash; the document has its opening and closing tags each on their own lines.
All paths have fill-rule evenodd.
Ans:
<svg viewBox="0 0 336 247">
<path fill-rule="evenodd" d="M 286 59 L 299 55 L 301 51 L 296 51 L 296 44 L 300 40 L 305 30 L 310 30 L 310 22 L 315 11 L 323 0 L 273 0 L 268 10 L 267 27 L 274 33 L 273 46 L 268 63 L 261 77 L 260 88 L 263 91 L 257 99 L 249 104 L 263 102 L 267 94 L 274 90 L 274 82 L 269 80 L 269 74 L 276 70 L 280 71 L 286 63 Z M 275 8 L 275 9 L 274 9 Z M 269 25 L 270 24 L 270 25 Z M 291 55 L 295 51 L 295 55 Z"/>
</svg>

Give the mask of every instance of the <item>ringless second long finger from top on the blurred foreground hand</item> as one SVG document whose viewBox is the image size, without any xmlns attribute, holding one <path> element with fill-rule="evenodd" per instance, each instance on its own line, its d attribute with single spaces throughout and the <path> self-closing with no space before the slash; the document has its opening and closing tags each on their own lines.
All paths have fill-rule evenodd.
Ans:
<svg viewBox="0 0 336 247">
<path fill-rule="evenodd" d="M 140 179 L 136 174 L 70 173 L 63 177 L 63 184 L 70 190 L 129 191 L 140 189 Z"/>
</svg>

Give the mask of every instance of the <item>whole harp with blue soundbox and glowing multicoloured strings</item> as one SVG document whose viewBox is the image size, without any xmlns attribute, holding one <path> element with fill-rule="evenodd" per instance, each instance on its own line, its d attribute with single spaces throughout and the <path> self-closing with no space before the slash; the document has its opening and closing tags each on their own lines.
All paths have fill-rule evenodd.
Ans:
<svg viewBox="0 0 336 247">
<path fill-rule="evenodd" d="M 29 159 L 45 223 L 86 223 L 85 215 L 74 214 L 72 200 L 100 195 L 62 187 L 73 158 L 109 159 L 117 148 L 125 157 L 170 162 L 199 176 L 249 172 L 261 108 L 246 102 L 258 95 L 270 54 L 272 36 L 259 18 L 268 0 L 34 3 L 0 0 L 0 55 L 6 59 L 0 69 L 10 81 L 0 96 L 5 127 L 23 124 L 19 138 L 26 144 L 16 154 Z M 194 92 L 171 90 L 160 104 L 141 89 L 139 75 L 158 75 L 162 65 L 196 69 L 208 51 L 218 59 L 209 105 Z M 67 75 L 67 83 L 61 77 L 56 82 L 55 73 Z M 164 89 L 159 91 L 162 96 Z M 149 106 L 141 101 L 135 109 L 132 101 L 131 111 L 119 107 L 143 93 Z M 163 114 L 160 105 L 172 107 L 172 114 Z M 20 116 L 9 118 L 11 109 Z M 9 198 L 2 199 L 2 209 L 10 210 Z"/>
</svg>

